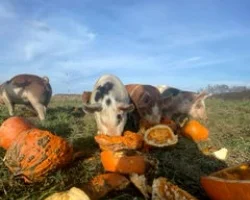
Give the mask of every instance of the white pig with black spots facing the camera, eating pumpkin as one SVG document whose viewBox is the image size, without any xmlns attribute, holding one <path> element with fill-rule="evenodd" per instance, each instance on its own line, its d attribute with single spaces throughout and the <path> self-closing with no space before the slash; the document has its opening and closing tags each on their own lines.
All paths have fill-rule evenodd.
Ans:
<svg viewBox="0 0 250 200">
<path fill-rule="evenodd" d="M 97 134 L 120 136 L 127 122 L 127 113 L 134 110 L 121 80 L 112 74 L 102 75 L 95 83 L 85 113 L 94 113 Z"/>
</svg>

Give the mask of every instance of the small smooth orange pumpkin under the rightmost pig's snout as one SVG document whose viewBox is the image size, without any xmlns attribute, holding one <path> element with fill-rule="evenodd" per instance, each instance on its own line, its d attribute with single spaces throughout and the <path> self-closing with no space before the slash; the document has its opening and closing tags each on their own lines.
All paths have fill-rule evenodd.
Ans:
<svg viewBox="0 0 250 200">
<path fill-rule="evenodd" d="M 188 120 L 182 127 L 181 133 L 195 142 L 207 140 L 209 135 L 208 129 L 196 120 Z"/>
</svg>

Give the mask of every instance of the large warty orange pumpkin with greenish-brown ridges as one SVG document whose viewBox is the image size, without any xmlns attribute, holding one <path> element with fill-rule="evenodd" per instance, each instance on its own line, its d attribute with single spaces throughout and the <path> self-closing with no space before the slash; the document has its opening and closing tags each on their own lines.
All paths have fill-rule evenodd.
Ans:
<svg viewBox="0 0 250 200">
<path fill-rule="evenodd" d="M 63 138 L 40 129 L 29 129 L 6 151 L 4 163 L 26 182 L 41 181 L 48 172 L 68 164 L 73 148 Z"/>
</svg>

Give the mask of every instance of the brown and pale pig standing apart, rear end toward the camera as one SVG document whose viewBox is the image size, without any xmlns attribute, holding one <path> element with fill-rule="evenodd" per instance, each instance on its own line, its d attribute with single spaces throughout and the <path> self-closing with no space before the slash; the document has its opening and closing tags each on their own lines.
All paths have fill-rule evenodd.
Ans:
<svg viewBox="0 0 250 200">
<path fill-rule="evenodd" d="M 23 104 L 34 109 L 39 119 L 44 120 L 51 95 L 47 76 L 20 74 L 0 86 L 0 99 L 7 106 L 10 116 L 14 115 L 15 104 Z"/>
</svg>

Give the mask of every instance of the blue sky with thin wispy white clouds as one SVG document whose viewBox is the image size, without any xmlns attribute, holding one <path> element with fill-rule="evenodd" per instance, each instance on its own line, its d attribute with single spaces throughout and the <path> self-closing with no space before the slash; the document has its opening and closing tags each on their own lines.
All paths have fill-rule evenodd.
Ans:
<svg viewBox="0 0 250 200">
<path fill-rule="evenodd" d="M 248 0 L 0 0 L 0 81 L 47 75 L 53 93 L 124 84 L 250 86 Z"/>
</svg>

